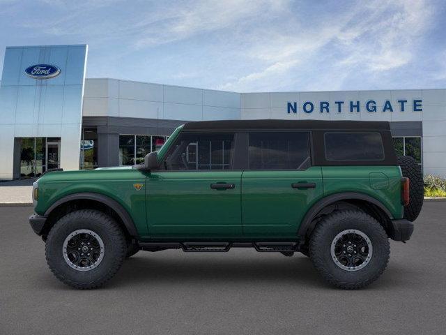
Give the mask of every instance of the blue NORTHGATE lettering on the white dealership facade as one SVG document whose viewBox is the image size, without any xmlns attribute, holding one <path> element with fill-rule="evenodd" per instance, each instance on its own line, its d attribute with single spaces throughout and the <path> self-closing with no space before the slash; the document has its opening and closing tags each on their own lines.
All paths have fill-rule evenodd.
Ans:
<svg viewBox="0 0 446 335">
<path fill-rule="evenodd" d="M 344 101 L 334 101 L 334 105 L 332 106 L 332 112 L 342 112 L 342 107 L 344 105 Z M 378 111 L 378 107 L 376 106 L 376 101 L 369 100 L 363 106 L 360 105 L 359 101 L 348 101 L 346 106 L 350 107 L 349 110 L 351 113 L 353 112 L 361 112 L 361 107 L 367 112 L 374 113 Z M 318 107 L 319 112 L 321 113 L 329 113 L 330 112 L 330 103 L 328 101 L 321 101 L 320 103 L 316 103 L 316 107 Z M 302 111 L 310 114 L 315 111 L 315 104 L 312 101 L 306 101 L 302 104 Z M 406 112 L 411 109 L 413 112 L 422 112 L 422 100 L 417 99 L 413 100 L 412 103 L 408 103 L 407 100 L 398 100 L 396 106 L 392 105 L 390 100 L 386 100 L 383 103 L 383 108 L 380 108 L 381 112 L 393 112 L 394 107 L 399 110 L 399 112 Z M 288 114 L 297 113 L 298 112 L 298 103 L 297 102 L 289 102 L 286 105 L 286 109 L 288 110 Z"/>
</svg>

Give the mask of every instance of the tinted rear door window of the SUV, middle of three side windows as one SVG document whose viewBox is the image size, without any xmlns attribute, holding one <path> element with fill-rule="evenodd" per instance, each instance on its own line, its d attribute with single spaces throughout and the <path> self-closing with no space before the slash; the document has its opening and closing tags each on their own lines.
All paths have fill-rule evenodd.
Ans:
<svg viewBox="0 0 446 335">
<path fill-rule="evenodd" d="M 249 133 L 249 170 L 303 170 L 310 164 L 309 133 Z"/>
</svg>

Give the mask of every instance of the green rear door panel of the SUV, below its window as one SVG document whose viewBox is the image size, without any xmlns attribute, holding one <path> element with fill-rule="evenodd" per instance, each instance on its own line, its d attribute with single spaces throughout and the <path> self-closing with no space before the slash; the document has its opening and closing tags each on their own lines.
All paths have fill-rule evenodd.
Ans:
<svg viewBox="0 0 446 335">
<path fill-rule="evenodd" d="M 316 187 L 291 187 L 299 182 L 314 183 Z M 295 237 L 307 210 L 322 196 L 320 167 L 243 172 L 243 236 Z"/>
</svg>

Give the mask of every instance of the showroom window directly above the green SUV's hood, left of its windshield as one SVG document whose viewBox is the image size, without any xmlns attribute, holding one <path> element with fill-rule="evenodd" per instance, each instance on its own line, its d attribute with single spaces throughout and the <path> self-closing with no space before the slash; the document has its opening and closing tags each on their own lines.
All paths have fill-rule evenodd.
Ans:
<svg viewBox="0 0 446 335">
<path fill-rule="evenodd" d="M 144 156 L 160 150 L 167 136 L 119 135 L 119 165 L 144 163 Z"/>
</svg>

